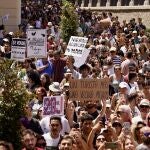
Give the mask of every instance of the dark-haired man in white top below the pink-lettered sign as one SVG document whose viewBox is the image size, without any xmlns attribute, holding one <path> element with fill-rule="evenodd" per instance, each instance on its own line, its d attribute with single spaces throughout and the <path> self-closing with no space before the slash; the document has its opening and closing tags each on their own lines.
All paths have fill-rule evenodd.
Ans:
<svg viewBox="0 0 150 150">
<path fill-rule="evenodd" d="M 61 118 L 57 116 L 53 116 L 50 118 L 49 123 L 50 123 L 49 127 L 51 132 L 45 133 L 43 137 L 46 141 L 47 149 L 57 150 L 59 141 L 62 138 L 60 134 L 60 131 L 62 129 Z"/>
</svg>

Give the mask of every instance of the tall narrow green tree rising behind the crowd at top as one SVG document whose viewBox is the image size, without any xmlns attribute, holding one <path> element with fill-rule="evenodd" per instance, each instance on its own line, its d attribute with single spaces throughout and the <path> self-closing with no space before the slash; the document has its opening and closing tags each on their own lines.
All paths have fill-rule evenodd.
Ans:
<svg viewBox="0 0 150 150">
<path fill-rule="evenodd" d="M 67 0 L 63 0 L 60 27 L 62 32 L 62 38 L 65 42 L 68 43 L 71 36 L 78 35 L 78 26 L 78 15 L 75 12 L 73 4 L 71 2 L 68 2 Z"/>
</svg>

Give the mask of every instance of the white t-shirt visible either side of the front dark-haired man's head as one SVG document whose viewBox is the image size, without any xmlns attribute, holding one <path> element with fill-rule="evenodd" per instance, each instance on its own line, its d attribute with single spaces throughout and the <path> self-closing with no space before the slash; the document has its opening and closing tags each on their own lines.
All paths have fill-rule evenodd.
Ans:
<svg viewBox="0 0 150 150">
<path fill-rule="evenodd" d="M 64 116 L 60 117 L 62 122 L 62 130 L 60 134 L 65 135 L 65 133 L 70 132 L 70 126 L 68 120 Z M 46 116 L 40 121 L 40 125 L 44 133 L 48 133 L 50 131 L 49 123 L 50 123 L 50 116 Z"/>
</svg>

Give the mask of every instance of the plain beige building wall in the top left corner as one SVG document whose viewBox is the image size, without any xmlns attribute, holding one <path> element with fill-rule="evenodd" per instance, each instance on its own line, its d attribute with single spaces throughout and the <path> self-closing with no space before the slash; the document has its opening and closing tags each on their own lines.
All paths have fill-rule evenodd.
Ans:
<svg viewBox="0 0 150 150">
<path fill-rule="evenodd" d="M 20 24 L 21 0 L 0 0 L 0 25 L 2 16 L 9 14 L 9 18 L 4 22 L 6 30 L 16 31 Z"/>
</svg>

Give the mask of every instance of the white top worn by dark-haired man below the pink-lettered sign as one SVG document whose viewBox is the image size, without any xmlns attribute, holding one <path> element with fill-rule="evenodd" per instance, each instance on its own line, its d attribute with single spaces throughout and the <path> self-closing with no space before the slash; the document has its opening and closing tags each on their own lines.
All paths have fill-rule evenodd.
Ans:
<svg viewBox="0 0 150 150">
<path fill-rule="evenodd" d="M 57 147 L 58 146 L 58 143 L 59 143 L 59 140 L 60 140 L 60 135 L 58 138 L 56 139 L 53 139 L 50 135 L 50 133 L 46 133 L 46 134 L 43 134 L 43 137 L 46 141 L 46 146 L 53 146 L 53 147 Z"/>
</svg>

